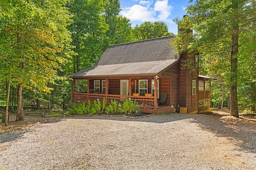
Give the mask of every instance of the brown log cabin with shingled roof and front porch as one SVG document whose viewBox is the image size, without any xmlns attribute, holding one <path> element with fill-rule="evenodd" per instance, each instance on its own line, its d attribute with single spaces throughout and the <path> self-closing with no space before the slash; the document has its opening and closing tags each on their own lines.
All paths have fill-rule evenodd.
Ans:
<svg viewBox="0 0 256 170">
<path fill-rule="evenodd" d="M 170 41 L 174 36 L 110 45 L 98 62 L 70 75 L 71 102 L 88 100 L 110 104 L 131 98 L 144 113 L 198 113 L 210 110 L 210 77 L 182 69 L 185 54 L 175 55 Z M 200 87 L 199 87 L 200 86 Z M 158 102 L 162 94 L 166 101 Z"/>
</svg>

